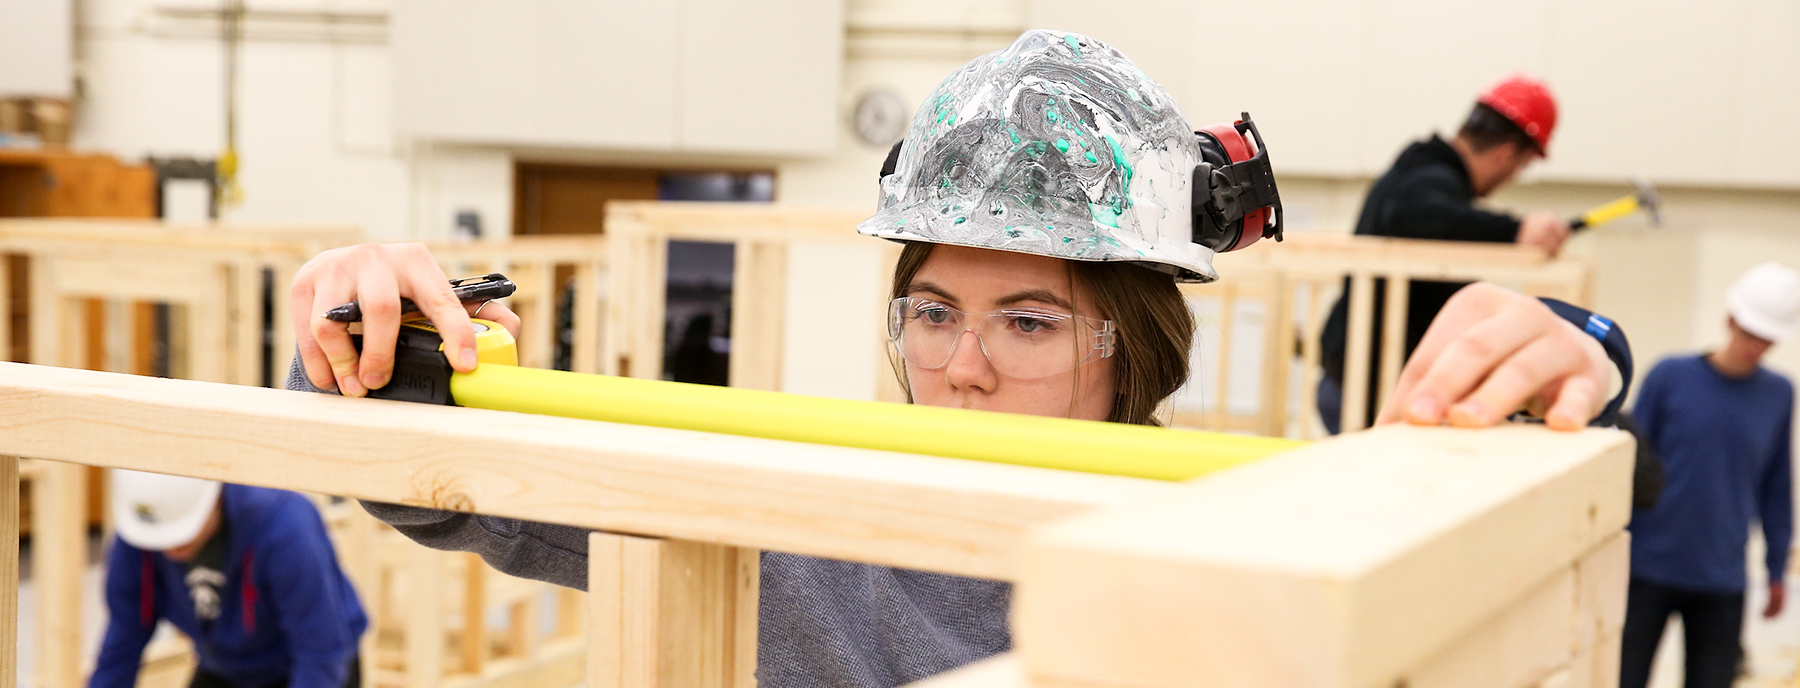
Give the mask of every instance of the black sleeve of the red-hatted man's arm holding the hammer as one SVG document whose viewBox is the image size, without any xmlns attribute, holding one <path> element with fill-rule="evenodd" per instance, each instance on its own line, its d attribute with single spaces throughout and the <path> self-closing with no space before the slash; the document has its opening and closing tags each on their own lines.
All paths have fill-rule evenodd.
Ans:
<svg viewBox="0 0 1800 688">
<path fill-rule="evenodd" d="M 1395 189 L 1384 209 L 1391 213 L 1393 236 L 1494 243 L 1512 243 L 1519 236 L 1519 218 L 1471 205 L 1462 198 L 1462 182 L 1444 169 L 1417 167 Z"/>
</svg>

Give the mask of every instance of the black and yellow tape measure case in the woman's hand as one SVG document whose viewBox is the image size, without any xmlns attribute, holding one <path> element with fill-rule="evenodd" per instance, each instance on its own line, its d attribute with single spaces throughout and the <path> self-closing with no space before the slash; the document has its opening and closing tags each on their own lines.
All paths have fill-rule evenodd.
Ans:
<svg viewBox="0 0 1800 688">
<path fill-rule="evenodd" d="M 513 333 L 493 321 L 470 319 L 470 322 L 475 326 L 475 360 L 482 366 L 518 366 L 518 344 Z M 351 342 L 362 351 L 362 335 L 351 335 Z M 454 405 L 452 373 L 437 326 L 430 321 L 407 321 L 400 324 L 400 337 L 394 342 L 394 376 L 382 389 L 371 389 L 369 396 Z"/>
</svg>

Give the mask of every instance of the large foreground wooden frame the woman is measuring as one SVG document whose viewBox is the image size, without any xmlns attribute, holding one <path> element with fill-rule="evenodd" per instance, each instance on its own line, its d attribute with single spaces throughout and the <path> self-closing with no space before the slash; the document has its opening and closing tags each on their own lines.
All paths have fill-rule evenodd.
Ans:
<svg viewBox="0 0 1800 688">
<path fill-rule="evenodd" d="M 1616 430 L 1388 427 L 1181 484 L 22 364 L 0 403 L 4 456 L 617 533 L 596 686 L 743 686 L 745 549 L 1015 582 L 1015 654 L 940 686 L 1593 686 L 1624 616 Z"/>
</svg>

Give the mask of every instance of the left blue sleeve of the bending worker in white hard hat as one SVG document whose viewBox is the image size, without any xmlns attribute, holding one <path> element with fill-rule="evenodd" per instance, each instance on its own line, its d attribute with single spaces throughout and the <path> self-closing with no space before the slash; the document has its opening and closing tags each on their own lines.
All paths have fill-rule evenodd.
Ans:
<svg viewBox="0 0 1800 688">
<path fill-rule="evenodd" d="M 153 589 L 144 589 L 146 569 L 144 551 L 113 537 L 106 553 L 106 636 L 101 639 L 101 654 L 94 661 L 88 688 L 131 688 L 137 684 L 144 645 L 149 645 L 158 618 L 157 609 L 144 603 L 146 594 L 155 598 Z"/>
</svg>

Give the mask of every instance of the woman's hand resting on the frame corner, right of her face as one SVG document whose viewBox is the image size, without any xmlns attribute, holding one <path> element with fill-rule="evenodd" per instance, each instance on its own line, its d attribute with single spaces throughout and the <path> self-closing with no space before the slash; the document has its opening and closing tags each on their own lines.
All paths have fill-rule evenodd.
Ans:
<svg viewBox="0 0 1800 688">
<path fill-rule="evenodd" d="M 1375 421 L 1485 427 L 1525 409 L 1579 430 L 1606 409 L 1611 380 L 1598 340 L 1537 299 L 1476 283 L 1431 321 Z"/>
</svg>

